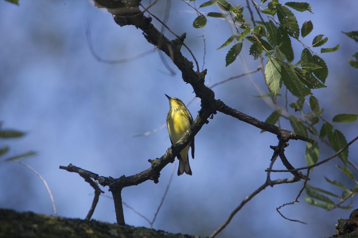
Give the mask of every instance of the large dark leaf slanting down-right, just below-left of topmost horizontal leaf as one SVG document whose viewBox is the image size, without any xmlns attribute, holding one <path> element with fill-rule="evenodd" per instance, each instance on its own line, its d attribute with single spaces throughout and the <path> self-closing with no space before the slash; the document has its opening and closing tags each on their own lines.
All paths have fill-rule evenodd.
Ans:
<svg viewBox="0 0 358 238">
<path fill-rule="evenodd" d="M 285 6 L 277 5 L 277 17 L 281 26 L 288 30 L 288 34 L 298 40 L 300 36 L 300 28 L 298 26 L 295 15 Z"/>
</svg>

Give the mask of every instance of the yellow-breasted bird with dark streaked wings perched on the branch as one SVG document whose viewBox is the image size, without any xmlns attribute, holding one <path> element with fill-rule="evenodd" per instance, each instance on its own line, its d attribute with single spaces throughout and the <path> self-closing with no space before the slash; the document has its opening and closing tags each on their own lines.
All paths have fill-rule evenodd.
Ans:
<svg viewBox="0 0 358 238">
<path fill-rule="evenodd" d="M 169 132 L 169 138 L 171 144 L 175 144 L 182 138 L 183 134 L 189 129 L 193 123 L 193 117 L 190 114 L 185 104 L 176 97 L 168 97 L 169 100 L 169 112 L 166 116 L 166 126 Z M 184 172 L 192 175 L 192 170 L 189 165 L 189 147 L 192 147 L 192 157 L 194 159 L 194 138 L 189 142 L 180 153 L 176 156 L 179 159 L 178 176 Z"/>
</svg>

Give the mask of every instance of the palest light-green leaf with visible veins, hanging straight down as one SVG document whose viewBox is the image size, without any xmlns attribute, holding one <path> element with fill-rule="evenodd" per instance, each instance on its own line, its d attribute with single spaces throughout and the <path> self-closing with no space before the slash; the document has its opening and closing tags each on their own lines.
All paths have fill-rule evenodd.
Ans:
<svg viewBox="0 0 358 238">
<path fill-rule="evenodd" d="M 274 94 L 275 98 L 279 93 L 282 86 L 281 79 L 281 63 L 275 58 L 269 57 L 265 67 L 266 85 L 270 88 L 270 91 Z"/>
</svg>

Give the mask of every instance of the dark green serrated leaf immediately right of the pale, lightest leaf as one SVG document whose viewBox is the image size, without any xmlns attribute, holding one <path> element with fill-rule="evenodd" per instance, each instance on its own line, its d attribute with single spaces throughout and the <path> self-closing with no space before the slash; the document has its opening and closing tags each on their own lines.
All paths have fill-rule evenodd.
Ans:
<svg viewBox="0 0 358 238">
<path fill-rule="evenodd" d="M 305 85 L 301 82 L 294 70 L 294 66 L 290 63 L 282 63 L 281 76 L 287 89 L 295 96 L 302 97 L 305 91 Z"/>
</svg>

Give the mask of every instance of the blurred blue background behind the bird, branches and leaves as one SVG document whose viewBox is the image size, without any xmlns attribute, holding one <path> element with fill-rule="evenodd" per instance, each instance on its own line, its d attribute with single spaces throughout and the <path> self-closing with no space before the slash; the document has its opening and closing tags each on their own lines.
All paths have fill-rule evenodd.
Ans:
<svg viewBox="0 0 358 238">
<path fill-rule="evenodd" d="M 204 1 L 197 1 L 197 6 Z M 314 14 L 294 14 L 302 26 L 311 20 L 314 30 L 303 40 L 310 45 L 313 37 L 324 34 L 329 38 L 324 47 L 340 44 L 334 53 L 322 54 L 329 68 L 327 88 L 313 90 L 324 107 L 323 117 L 331 121 L 338 113 L 357 113 L 357 69 L 348 58 L 358 45 L 342 31 L 358 30 L 357 1 L 308 1 Z M 192 4 L 192 2 L 190 2 Z M 147 4 L 144 1 L 143 4 Z M 232 5 L 246 1 L 234 1 Z M 165 15 L 165 2 L 159 1 L 151 11 L 160 19 Z M 194 29 L 197 16 L 184 1 L 171 1 L 167 25 L 177 34 L 187 32 L 185 43 L 203 66 L 204 44 L 202 29 Z M 203 11 L 218 11 L 215 6 Z M 146 14 L 147 15 L 147 14 Z M 244 17 L 250 21 L 245 7 Z M 257 19 L 258 20 L 258 19 Z M 161 27 L 153 20 L 155 26 Z M 91 206 L 93 189 L 76 173 L 59 169 L 69 163 L 101 176 L 118 178 L 130 176 L 149 168 L 148 159 L 164 155 L 170 146 L 166 128 L 148 136 L 138 136 L 165 123 L 169 110 L 169 96 L 188 103 L 195 96 L 185 84 L 180 71 L 164 56 L 174 75 L 164 66 L 158 51 L 127 60 L 120 64 L 105 64 L 95 59 L 87 43 L 86 27 L 90 30 L 93 50 L 106 60 L 129 59 L 153 49 L 133 26 L 120 27 L 108 12 L 93 7 L 87 1 L 21 1 L 19 6 L 0 1 L 0 121 L 2 129 L 26 132 L 22 138 L 1 140 L 10 145 L 9 156 L 37 151 L 36 156 L 24 158 L 47 181 L 59 216 L 84 218 Z M 169 39 L 174 39 L 165 31 Z M 231 36 L 226 21 L 208 17 L 205 26 L 206 55 L 204 69 L 208 69 L 206 83 L 210 86 L 228 77 L 256 69 L 258 61 L 248 55 L 248 44 L 237 60 L 225 67 L 229 47 L 216 50 Z M 292 40 L 294 63 L 299 60 L 302 45 Z M 183 54 L 192 60 L 183 47 Z M 267 92 L 261 72 L 232 80 L 214 87 L 215 97 L 243 113 L 265 121 L 272 109 L 254 84 Z M 280 91 L 285 94 L 285 90 Z M 294 98 L 289 98 L 292 102 Z M 277 97 L 279 107 L 285 99 Z M 193 117 L 200 110 L 196 98 L 188 106 Z M 299 116 L 299 112 L 291 111 Z M 281 119 L 281 127 L 291 130 L 289 122 Z M 336 123 L 347 141 L 357 136 L 357 122 Z M 277 138 L 270 133 L 218 113 L 204 125 L 195 137 L 195 159 L 190 160 L 193 176 L 174 175 L 168 196 L 153 228 L 172 233 L 209 236 L 222 224 L 234 208 L 265 182 L 265 169 L 272 156 L 270 145 Z M 305 166 L 305 142 L 290 141 L 286 156 L 295 167 Z M 320 143 L 320 160 L 334 151 Z M 357 161 L 358 149 L 349 148 L 349 158 Z M 338 158 L 319 166 L 310 174 L 309 184 L 340 193 L 325 182 L 323 176 L 355 186 L 335 164 Z M 168 164 L 158 184 L 147 181 L 124 188 L 122 199 L 142 215 L 152 219 L 173 171 Z M 284 169 L 277 161 L 275 169 Z M 176 171 L 177 168 L 175 168 Z M 176 172 L 175 172 L 176 173 Z M 289 178 L 291 174 L 275 173 L 272 179 Z M 276 212 L 276 207 L 292 202 L 303 181 L 268 187 L 236 214 L 218 237 L 327 237 L 335 233 L 339 217 L 348 219 L 352 210 L 326 212 L 304 202 L 286 206 L 281 212 L 307 225 L 290 222 Z M 108 187 L 102 188 L 111 196 Z M 19 163 L 0 166 L 0 207 L 16 211 L 33 211 L 54 215 L 47 190 L 35 173 Z M 357 208 L 356 199 L 353 199 Z M 345 205 L 348 205 L 345 204 Z M 149 227 L 149 223 L 124 207 L 126 224 Z M 115 223 L 113 201 L 100 197 L 93 219 Z"/>
</svg>

